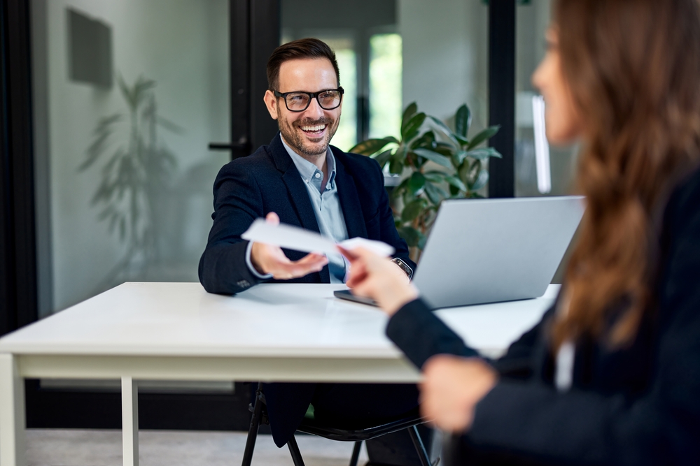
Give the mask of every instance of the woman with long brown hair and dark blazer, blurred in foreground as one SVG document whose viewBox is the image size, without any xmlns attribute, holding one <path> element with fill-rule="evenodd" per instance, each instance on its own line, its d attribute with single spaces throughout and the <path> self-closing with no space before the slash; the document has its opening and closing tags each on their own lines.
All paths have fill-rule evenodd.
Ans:
<svg viewBox="0 0 700 466">
<path fill-rule="evenodd" d="M 486 361 L 385 259 L 346 253 L 348 284 L 391 315 L 469 464 L 698 463 L 699 2 L 559 0 L 547 41 L 547 137 L 582 142 L 587 197 L 554 307 Z"/>
</svg>

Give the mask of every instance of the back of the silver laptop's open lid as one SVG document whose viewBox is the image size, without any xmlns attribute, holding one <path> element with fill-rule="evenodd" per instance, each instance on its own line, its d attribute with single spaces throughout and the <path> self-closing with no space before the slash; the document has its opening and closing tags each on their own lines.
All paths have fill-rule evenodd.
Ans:
<svg viewBox="0 0 700 466">
<path fill-rule="evenodd" d="M 583 212 L 582 196 L 444 201 L 413 282 L 433 308 L 542 296 Z"/>
</svg>

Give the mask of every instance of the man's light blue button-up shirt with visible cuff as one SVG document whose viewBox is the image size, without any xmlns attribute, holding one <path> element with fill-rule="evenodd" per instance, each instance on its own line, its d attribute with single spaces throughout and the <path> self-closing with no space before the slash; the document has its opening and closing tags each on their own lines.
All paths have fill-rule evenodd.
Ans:
<svg viewBox="0 0 700 466">
<path fill-rule="evenodd" d="M 313 163 L 294 152 L 282 138 L 282 145 L 287 150 L 297 171 L 304 180 L 304 186 L 309 193 L 311 207 L 314 208 L 318 230 L 321 235 L 330 238 L 335 242 L 348 239 L 348 231 L 345 226 L 345 217 L 340 207 L 340 199 L 335 184 L 335 157 L 330 147 L 325 154 L 326 166 L 328 167 L 328 181 L 323 185 L 323 172 Z M 255 276 L 260 279 L 267 279 L 272 275 L 261 275 L 253 267 L 251 262 L 251 248 L 253 243 L 248 243 L 246 249 L 246 263 Z M 344 283 L 346 275 L 346 261 L 342 254 L 328 254 L 328 271 L 330 272 L 331 283 Z"/>
</svg>

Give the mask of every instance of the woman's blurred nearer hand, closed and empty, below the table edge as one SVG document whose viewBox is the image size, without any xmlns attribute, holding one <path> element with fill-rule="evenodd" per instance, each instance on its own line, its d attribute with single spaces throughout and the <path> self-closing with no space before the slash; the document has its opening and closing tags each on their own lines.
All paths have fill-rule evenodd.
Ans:
<svg viewBox="0 0 700 466">
<path fill-rule="evenodd" d="M 465 432 L 474 408 L 498 382 L 498 373 L 479 358 L 438 354 L 423 365 L 421 414 L 437 428 Z"/>
</svg>

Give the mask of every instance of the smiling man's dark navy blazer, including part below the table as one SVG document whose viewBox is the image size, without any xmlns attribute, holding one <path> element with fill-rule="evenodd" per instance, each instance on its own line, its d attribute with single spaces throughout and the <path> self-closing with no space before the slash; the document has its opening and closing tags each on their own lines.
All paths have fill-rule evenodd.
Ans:
<svg viewBox="0 0 700 466">
<path fill-rule="evenodd" d="M 335 182 L 348 238 L 368 238 L 392 245 L 395 257 L 415 269 L 406 242 L 399 237 L 384 189 L 379 163 L 367 156 L 332 147 Z M 319 231 L 304 180 L 282 145 L 279 133 L 269 145 L 221 168 L 214 182 L 214 225 L 200 259 L 200 282 L 209 293 L 233 294 L 261 282 L 245 261 L 248 241 L 241 240 L 253 220 L 276 212 L 284 224 Z M 289 259 L 306 253 L 285 250 Z M 268 280 L 267 282 L 275 282 Z M 320 272 L 284 283 L 330 283 L 328 265 Z M 265 396 L 270 429 L 283 446 L 301 422 L 315 384 L 267 384 Z"/>
</svg>

